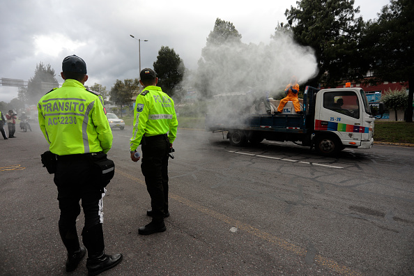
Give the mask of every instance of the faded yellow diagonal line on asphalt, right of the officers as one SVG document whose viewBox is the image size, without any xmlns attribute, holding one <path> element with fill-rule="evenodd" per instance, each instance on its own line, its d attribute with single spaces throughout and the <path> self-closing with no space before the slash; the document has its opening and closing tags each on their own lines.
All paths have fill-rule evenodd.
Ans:
<svg viewBox="0 0 414 276">
<path fill-rule="evenodd" d="M 145 181 L 139 178 L 136 178 L 135 176 L 131 176 L 130 174 L 127 174 L 125 171 L 120 171 L 119 169 L 115 169 L 115 172 L 117 174 L 122 174 L 126 178 L 129 178 L 132 181 L 137 181 L 143 185 L 145 185 Z M 305 248 L 300 247 L 299 245 L 294 245 L 293 243 L 288 242 L 287 240 L 284 240 L 282 238 L 279 238 L 277 236 L 273 236 L 270 233 L 266 233 L 265 231 L 261 231 L 260 229 L 257 229 L 255 227 L 252 227 L 250 224 L 245 224 L 244 222 L 241 222 L 240 220 L 235 220 L 232 217 L 228 217 L 227 215 L 223 215 L 221 213 L 216 212 L 215 210 L 210 210 L 209 208 L 205 206 L 201 206 L 193 201 L 190 201 L 189 199 L 185 199 L 184 197 L 180 197 L 177 194 L 169 194 L 170 199 L 174 199 L 181 204 L 184 204 L 190 208 L 193 208 L 195 210 L 199 210 L 201 213 L 205 213 L 206 215 L 209 215 L 210 217 L 216 218 L 217 220 L 220 220 L 221 222 L 225 222 L 229 225 L 231 225 L 230 231 L 234 231 L 234 229 L 237 229 L 236 231 L 243 230 L 247 233 L 252 234 L 253 236 L 256 236 L 258 238 L 261 238 L 263 240 L 267 240 L 270 243 L 273 243 L 274 245 L 279 246 L 280 248 L 292 252 L 293 254 L 296 254 L 298 256 L 302 256 L 305 258 L 307 254 L 307 250 Z M 321 254 L 316 254 L 314 256 L 314 262 L 318 263 L 320 266 L 323 266 L 324 268 L 329 268 L 331 270 L 334 270 L 340 275 L 362 275 L 362 273 L 353 270 L 351 268 L 348 268 L 346 266 L 342 266 L 341 264 L 337 263 L 337 261 L 326 258 L 322 256 Z"/>
</svg>

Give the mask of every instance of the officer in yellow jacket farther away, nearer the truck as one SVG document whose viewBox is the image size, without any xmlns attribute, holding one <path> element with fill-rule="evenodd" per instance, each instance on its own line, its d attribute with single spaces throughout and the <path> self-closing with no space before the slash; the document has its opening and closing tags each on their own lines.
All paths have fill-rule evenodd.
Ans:
<svg viewBox="0 0 414 276">
<path fill-rule="evenodd" d="M 153 217 L 151 223 L 138 229 L 141 235 L 166 230 L 164 217 L 168 210 L 168 158 L 172 143 L 176 139 L 178 121 L 174 101 L 156 86 L 158 77 L 149 68 L 141 70 L 140 83 L 144 86 L 135 102 L 133 133 L 130 139 L 131 160 L 141 144 L 141 171 L 145 177 L 146 189 L 151 197 L 151 210 L 146 214 Z"/>
</svg>

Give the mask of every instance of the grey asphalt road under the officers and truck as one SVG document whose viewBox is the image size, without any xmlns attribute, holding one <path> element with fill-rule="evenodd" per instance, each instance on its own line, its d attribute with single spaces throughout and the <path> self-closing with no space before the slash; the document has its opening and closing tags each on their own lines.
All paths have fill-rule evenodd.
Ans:
<svg viewBox="0 0 414 276">
<path fill-rule="evenodd" d="M 86 260 L 65 272 L 56 187 L 40 163 L 47 143 L 32 128 L 0 140 L 0 275 L 86 275 Z M 102 275 L 414 275 L 414 148 L 323 158 L 178 130 L 167 231 L 140 236 L 150 199 L 129 158 L 132 130 L 113 133 L 105 251 L 124 259 Z"/>
</svg>

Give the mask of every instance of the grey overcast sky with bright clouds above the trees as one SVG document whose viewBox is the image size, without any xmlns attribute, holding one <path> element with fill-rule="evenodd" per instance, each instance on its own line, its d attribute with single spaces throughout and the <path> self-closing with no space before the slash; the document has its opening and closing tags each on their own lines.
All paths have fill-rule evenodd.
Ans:
<svg viewBox="0 0 414 276">
<path fill-rule="evenodd" d="M 388 3 L 355 0 L 354 7 L 360 6 L 366 21 Z M 185 67 L 196 69 L 217 17 L 233 23 L 243 43 L 268 44 L 291 6 L 297 6 L 296 0 L 2 0 L 0 77 L 27 82 L 43 62 L 52 66 L 61 84 L 61 62 L 76 54 L 86 61 L 85 85 L 96 82 L 109 91 L 116 79 L 139 75 L 139 42 L 130 34 L 141 39 L 141 68 L 153 68 L 160 47 L 168 46 Z M 0 86 L 0 101 L 16 97 L 17 88 Z"/>
</svg>

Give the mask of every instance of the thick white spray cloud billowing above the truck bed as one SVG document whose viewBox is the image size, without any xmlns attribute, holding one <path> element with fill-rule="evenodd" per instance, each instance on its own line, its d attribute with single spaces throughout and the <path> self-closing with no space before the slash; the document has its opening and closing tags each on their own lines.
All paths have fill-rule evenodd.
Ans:
<svg viewBox="0 0 414 276">
<path fill-rule="evenodd" d="M 313 49 L 298 45 L 285 33 L 277 33 L 268 45 L 207 45 L 202 56 L 197 74 L 186 78 L 192 83 L 184 86 L 204 89 L 206 95 L 248 91 L 249 87 L 274 95 L 289 84 L 293 75 L 299 84 L 305 84 L 318 72 Z"/>
</svg>

